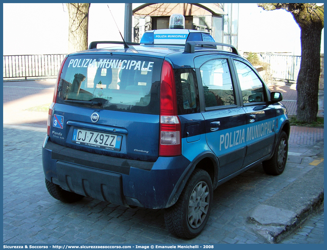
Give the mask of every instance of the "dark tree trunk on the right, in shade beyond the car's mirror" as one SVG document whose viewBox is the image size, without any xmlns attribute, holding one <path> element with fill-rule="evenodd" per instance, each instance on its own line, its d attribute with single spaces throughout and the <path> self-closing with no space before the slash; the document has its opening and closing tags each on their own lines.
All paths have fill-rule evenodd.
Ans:
<svg viewBox="0 0 327 250">
<path fill-rule="evenodd" d="M 301 65 L 297 79 L 297 119 L 314 122 L 318 113 L 321 28 L 301 27 Z"/>
</svg>

